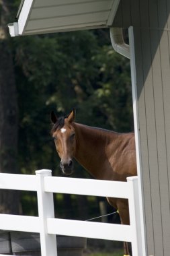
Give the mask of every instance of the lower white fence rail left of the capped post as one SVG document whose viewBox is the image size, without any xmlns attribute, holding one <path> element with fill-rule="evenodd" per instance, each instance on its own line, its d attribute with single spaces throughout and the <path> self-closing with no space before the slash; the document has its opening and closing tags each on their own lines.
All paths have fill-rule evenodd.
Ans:
<svg viewBox="0 0 170 256">
<path fill-rule="evenodd" d="M 38 217 L 0 214 L 0 229 L 23 232 L 40 232 Z"/>
</svg>

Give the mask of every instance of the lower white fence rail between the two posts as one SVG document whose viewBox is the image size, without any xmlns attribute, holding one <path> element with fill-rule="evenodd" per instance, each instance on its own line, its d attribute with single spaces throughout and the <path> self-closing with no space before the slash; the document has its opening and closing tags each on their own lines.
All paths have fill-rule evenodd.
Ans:
<svg viewBox="0 0 170 256">
<path fill-rule="evenodd" d="M 132 229 L 128 225 L 51 218 L 48 218 L 47 223 L 49 234 L 132 241 Z"/>
</svg>

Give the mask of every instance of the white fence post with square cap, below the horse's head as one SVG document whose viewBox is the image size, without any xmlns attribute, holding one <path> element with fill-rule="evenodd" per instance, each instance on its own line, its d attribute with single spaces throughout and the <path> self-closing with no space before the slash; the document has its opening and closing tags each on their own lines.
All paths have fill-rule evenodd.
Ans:
<svg viewBox="0 0 170 256">
<path fill-rule="evenodd" d="M 47 229 L 47 218 L 54 218 L 53 194 L 44 191 L 44 177 L 51 176 L 51 172 L 51 170 L 36 170 L 38 179 L 37 198 L 42 256 L 57 256 L 56 235 L 48 234 Z"/>
</svg>

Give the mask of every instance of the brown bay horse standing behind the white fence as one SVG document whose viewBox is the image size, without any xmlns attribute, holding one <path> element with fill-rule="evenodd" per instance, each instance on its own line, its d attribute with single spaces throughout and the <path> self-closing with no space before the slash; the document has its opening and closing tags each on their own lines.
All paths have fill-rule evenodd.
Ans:
<svg viewBox="0 0 170 256">
<path fill-rule="evenodd" d="M 116 133 L 106 129 L 75 123 L 75 110 L 67 117 L 50 113 L 51 135 L 65 175 L 73 173 L 73 158 L 95 179 L 124 181 L 136 176 L 134 133 Z M 130 224 L 128 199 L 107 198 L 119 214 L 121 224 Z M 125 255 L 130 255 L 124 243 Z"/>
</svg>

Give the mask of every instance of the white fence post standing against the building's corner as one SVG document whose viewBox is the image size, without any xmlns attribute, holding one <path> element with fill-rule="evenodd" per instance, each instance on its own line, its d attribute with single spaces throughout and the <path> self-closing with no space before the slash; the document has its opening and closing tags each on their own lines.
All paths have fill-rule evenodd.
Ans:
<svg viewBox="0 0 170 256">
<path fill-rule="evenodd" d="M 138 177 L 128 177 L 127 181 L 130 185 L 130 197 L 128 199 L 128 203 L 130 226 L 132 226 L 132 253 L 133 255 L 146 256 L 145 251 L 142 250 Z"/>
</svg>

